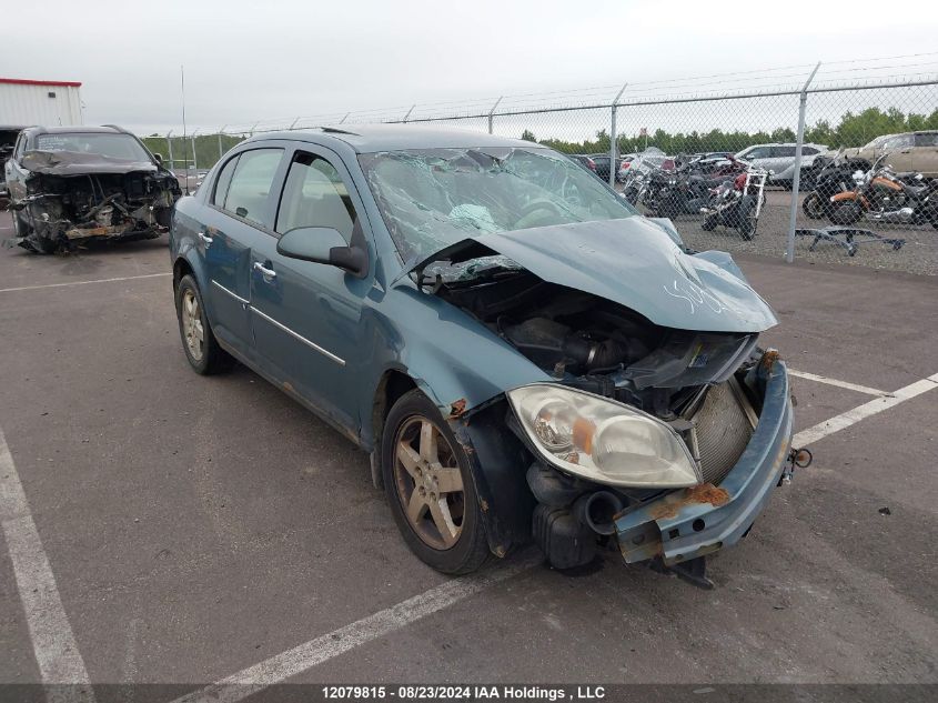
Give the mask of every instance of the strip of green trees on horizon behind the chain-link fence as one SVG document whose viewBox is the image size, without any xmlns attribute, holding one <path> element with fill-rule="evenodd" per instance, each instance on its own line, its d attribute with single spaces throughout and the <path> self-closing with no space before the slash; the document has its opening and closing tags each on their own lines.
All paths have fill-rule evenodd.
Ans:
<svg viewBox="0 0 938 703">
<path fill-rule="evenodd" d="M 805 129 L 805 141 L 817 144 L 827 144 L 831 149 L 840 147 L 863 147 L 871 139 L 882 134 L 895 134 L 897 132 L 911 132 L 916 130 L 938 130 L 938 109 L 931 114 L 904 113 L 897 108 L 880 110 L 879 108 L 867 108 L 863 112 L 854 114 L 847 112 L 840 121 L 833 125 L 827 120 Z M 522 139 L 536 141 L 545 147 L 551 147 L 564 153 L 605 153 L 609 151 L 609 134 L 605 129 L 596 132 L 596 139 L 581 142 L 565 141 L 562 139 L 538 140 L 531 130 L 524 130 Z M 766 142 L 794 142 L 797 139 L 795 130 L 788 127 L 779 127 L 770 132 L 744 132 L 724 131 L 714 129 L 708 132 L 677 132 L 669 133 L 658 129 L 649 132 L 647 145 L 656 147 L 669 154 L 698 153 L 704 151 L 730 151 L 737 152 L 753 144 Z M 635 153 L 645 149 L 645 137 L 619 135 L 616 139 L 619 153 Z"/>
</svg>

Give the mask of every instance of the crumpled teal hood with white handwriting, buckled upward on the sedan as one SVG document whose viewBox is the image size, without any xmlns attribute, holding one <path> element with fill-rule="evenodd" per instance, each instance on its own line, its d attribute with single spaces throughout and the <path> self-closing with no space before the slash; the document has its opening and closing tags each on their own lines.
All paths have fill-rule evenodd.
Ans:
<svg viewBox="0 0 938 703">
<path fill-rule="evenodd" d="M 750 333 L 778 323 L 729 254 L 686 254 L 642 217 L 481 234 L 412 270 L 485 255 L 485 249 L 544 281 L 619 303 L 662 327 Z"/>
</svg>

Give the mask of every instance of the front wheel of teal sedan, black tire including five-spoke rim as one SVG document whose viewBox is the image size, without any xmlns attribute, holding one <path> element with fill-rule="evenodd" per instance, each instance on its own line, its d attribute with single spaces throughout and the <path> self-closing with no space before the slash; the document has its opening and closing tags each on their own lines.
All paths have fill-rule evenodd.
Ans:
<svg viewBox="0 0 938 703">
<path fill-rule="evenodd" d="M 485 563 L 491 552 L 468 458 L 418 390 L 387 414 L 381 470 L 394 522 L 421 561 L 454 575 Z"/>
</svg>

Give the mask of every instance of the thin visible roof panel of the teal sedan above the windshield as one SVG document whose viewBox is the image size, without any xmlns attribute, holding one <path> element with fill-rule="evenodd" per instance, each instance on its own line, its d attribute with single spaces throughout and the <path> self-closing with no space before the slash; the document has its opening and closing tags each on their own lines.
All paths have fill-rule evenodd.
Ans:
<svg viewBox="0 0 938 703">
<path fill-rule="evenodd" d="M 248 141 L 285 139 L 310 141 L 323 145 L 343 142 L 359 153 L 375 151 L 400 151 L 405 149 L 463 149 L 472 147 L 527 147 L 541 148 L 529 141 L 507 139 L 478 132 L 427 124 L 340 124 L 295 131 L 270 132 L 252 137 Z"/>
</svg>

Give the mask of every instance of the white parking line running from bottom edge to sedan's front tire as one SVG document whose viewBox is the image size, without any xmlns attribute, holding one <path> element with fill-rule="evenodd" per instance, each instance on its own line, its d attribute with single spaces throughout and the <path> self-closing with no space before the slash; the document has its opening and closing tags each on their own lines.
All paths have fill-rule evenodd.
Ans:
<svg viewBox="0 0 938 703">
<path fill-rule="evenodd" d="M 528 571 L 542 562 L 543 558 L 539 556 L 521 560 L 516 558 L 512 563 L 495 566 L 484 574 L 447 581 L 396 605 L 264 660 L 205 689 L 193 691 L 173 703 L 234 703 L 361 644 L 401 630 L 488 586 Z"/>
</svg>

